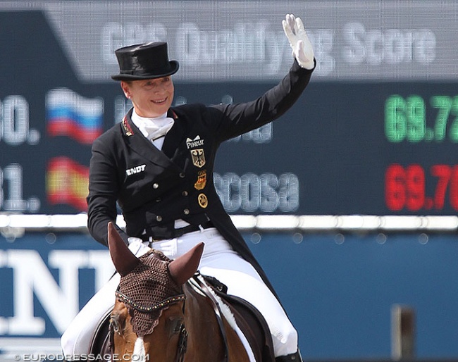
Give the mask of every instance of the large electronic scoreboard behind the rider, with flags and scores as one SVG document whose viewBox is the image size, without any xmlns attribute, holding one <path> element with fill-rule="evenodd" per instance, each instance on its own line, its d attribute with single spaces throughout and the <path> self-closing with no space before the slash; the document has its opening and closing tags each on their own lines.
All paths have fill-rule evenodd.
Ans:
<svg viewBox="0 0 458 362">
<path fill-rule="evenodd" d="M 454 215 L 455 1 L 0 2 L 0 212 L 86 211 L 91 144 L 130 107 L 119 46 L 168 41 L 175 105 L 250 101 L 292 64 L 285 13 L 318 66 L 284 116 L 221 145 L 225 209 Z"/>
</svg>

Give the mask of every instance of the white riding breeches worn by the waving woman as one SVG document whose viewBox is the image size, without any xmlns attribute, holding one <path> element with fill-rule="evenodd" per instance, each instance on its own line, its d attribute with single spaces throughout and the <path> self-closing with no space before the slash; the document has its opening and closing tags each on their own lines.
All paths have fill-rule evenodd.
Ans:
<svg viewBox="0 0 458 362">
<path fill-rule="evenodd" d="M 131 238 L 133 239 L 133 238 Z M 297 351 L 297 332 L 287 318 L 283 307 L 254 267 L 237 254 L 215 228 L 190 232 L 182 237 L 154 242 L 152 247 L 169 258 L 177 258 L 199 242 L 204 242 L 204 254 L 199 264 L 202 275 L 216 277 L 228 287 L 228 294 L 249 301 L 266 318 L 273 338 L 276 356 Z M 130 250 L 137 256 L 147 248 L 138 241 L 131 242 Z M 63 353 L 78 355 L 89 353 L 90 343 L 99 322 L 110 313 L 114 305 L 114 292 L 119 283 L 116 274 L 82 308 L 61 339 Z"/>
</svg>

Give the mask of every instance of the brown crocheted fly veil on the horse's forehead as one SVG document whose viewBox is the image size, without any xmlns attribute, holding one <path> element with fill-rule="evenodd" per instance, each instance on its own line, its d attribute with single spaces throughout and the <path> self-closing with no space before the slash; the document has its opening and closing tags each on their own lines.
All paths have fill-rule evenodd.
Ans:
<svg viewBox="0 0 458 362">
<path fill-rule="evenodd" d="M 182 286 L 168 273 L 169 258 L 151 250 L 139 260 L 130 273 L 121 277 L 116 297 L 128 306 L 134 332 L 144 336 L 153 332 L 170 304 L 185 296 Z"/>
</svg>

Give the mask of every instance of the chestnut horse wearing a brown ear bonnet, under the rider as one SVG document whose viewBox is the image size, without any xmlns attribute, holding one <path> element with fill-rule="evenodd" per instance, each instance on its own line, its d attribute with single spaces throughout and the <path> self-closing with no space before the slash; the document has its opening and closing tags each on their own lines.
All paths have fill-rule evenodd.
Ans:
<svg viewBox="0 0 458 362">
<path fill-rule="evenodd" d="M 175 260 L 154 249 L 137 258 L 112 223 L 108 235 L 121 279 L 92 352 L 112 361 L 275 361 L 265 320 L 242 300 L 223 301 L 224 286 L 199 274 L 203 243 Z"/>
</svg>

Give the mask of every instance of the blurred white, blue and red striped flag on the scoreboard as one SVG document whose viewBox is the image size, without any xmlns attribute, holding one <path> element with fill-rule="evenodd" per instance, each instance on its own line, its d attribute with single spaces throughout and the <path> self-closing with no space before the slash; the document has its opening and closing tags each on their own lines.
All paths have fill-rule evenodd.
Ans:
<svg viewBox="0 0 458 362">
<path fill-rule="evenodd" d="M 47 132 L 92 144 L 104 128 L 104 100 L 87 99 L 68 88 L 51 89 L 46 96 Z"/>
</svg>

